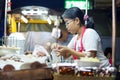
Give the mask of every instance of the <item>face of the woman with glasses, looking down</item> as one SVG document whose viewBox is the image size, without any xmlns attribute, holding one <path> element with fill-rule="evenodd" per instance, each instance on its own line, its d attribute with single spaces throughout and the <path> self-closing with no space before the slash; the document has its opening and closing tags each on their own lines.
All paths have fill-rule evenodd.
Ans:
<svg viewBox="0 0 120 80">
<path fill-rule="evenodd" d="M 75 19 L 64 18 L 64 21 L 68 32 L 70 32 L 71 34 L 75 34 L 78 32 L 79 26 L 77 25 Z"/>
</svg>

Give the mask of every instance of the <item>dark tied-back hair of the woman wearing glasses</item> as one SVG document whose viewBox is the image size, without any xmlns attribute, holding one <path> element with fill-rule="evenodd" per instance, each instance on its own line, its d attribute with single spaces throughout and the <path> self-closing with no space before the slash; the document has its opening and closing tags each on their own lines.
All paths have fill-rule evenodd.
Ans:
<svg viewBox="0 0 120 80">
<path fill-rule="evenodd" d="M 82 10 L 80 10 L 78 7 L 72 7 L 67 10 L 62 14 L 62 18 L 68 18 L 68 19 L 75 19 L 78 17 L 80 19 L 81 24 L 85 24 L 84 20 L 84 13 Z M 87 28 L 94 28 L 94 22 L 90 18 L 87 19 Z"/>
</svg>

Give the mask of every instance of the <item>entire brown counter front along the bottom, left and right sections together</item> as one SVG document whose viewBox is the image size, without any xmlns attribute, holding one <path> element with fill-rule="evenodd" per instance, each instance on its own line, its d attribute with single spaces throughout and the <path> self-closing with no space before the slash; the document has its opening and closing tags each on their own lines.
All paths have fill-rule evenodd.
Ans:
<svg viewBox="0 0 120 80">
<path fill-rule="evenodd" d="M 53 73 L 50 68 L 16 70 L 10 72 L 0 71 L 0 80 L 114 80 L 115 77 L 92 77 L 61 75 Z"/>
</svg>

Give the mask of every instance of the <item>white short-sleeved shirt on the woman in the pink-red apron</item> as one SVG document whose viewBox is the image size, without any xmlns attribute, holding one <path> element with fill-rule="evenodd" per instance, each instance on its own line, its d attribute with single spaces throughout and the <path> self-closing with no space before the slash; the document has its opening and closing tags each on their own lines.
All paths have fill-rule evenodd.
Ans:
<svg viewBox="0 0 120 80">
<path fill-rule="evenodd" d="M 81 47 L 80 45 L 81 38 L 77 40 L 77 36 L 78 34 L 72 38 L 72 40 L 68 44 L 68 47 L 74 49 L 74 45 L 76 42 L 76 51 L 79 51 Z M 89 52 L 90 50 L 97 51 L 96 57 L 100 59 L 102 63 L 101 67 L 110 66 L 108 59 L 103 54 L 101 39 L 94 29 L 91 28 L 86 29 L 85 33 L 83 34 L 82 44 L 85 52 Z"/>
</svg>

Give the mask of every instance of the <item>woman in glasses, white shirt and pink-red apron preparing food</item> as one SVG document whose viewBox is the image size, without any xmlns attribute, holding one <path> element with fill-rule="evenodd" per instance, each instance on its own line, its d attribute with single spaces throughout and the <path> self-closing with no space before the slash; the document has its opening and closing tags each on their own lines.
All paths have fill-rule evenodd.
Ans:
<svg viewBox="0 0 120 80">
<path fill-rule="evenodd" d="M 86 28 L 84 25 L 84 14 L 77 8 L 67 9 L 62 18 L 65 22 L 68 32 L 75 34 L 68 46 L 60 46 L 54 44 L 54 48 L 58 55 L 65 58 L 73 56 L 74 59 L 80 57 L 97 57 L 101 61 L 101 67 L 109 66 L 108 59 L 104 56 L 101 47 L 101 39 L 97 32 L 92 28 Z"/>
</svg>

